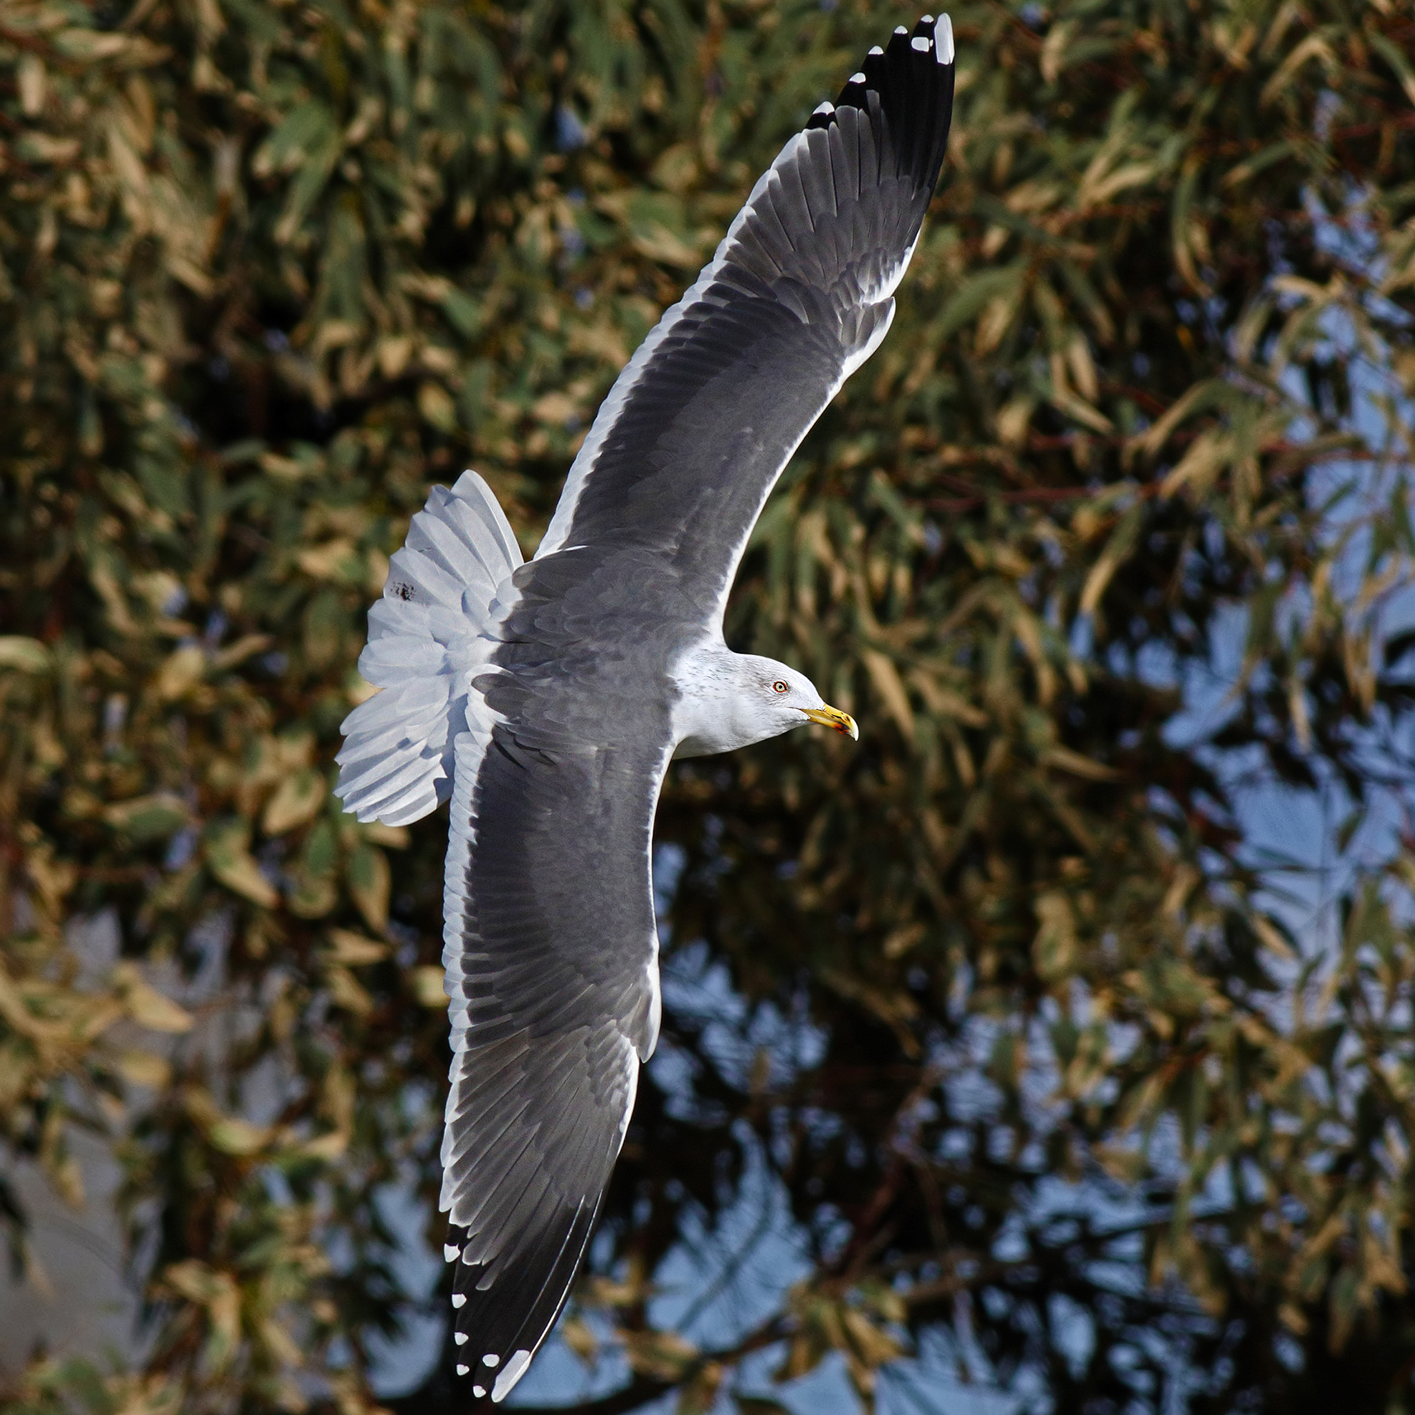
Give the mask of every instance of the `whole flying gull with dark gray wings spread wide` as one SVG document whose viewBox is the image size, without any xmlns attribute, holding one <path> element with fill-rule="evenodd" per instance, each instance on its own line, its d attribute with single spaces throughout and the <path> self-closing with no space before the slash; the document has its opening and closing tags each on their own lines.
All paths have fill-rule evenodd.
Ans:
<svg viewBox="0 0 1415 1415">
<path fill-rule="evenodd" d="M 674 757 L 808 722 L 723 641 L 761 507 L 879 348 L 938 181 L 948 16 L 870 50 L 761 177 L 600 408 L 522 563 L 473 471 L 434 487 L 369 611 L 335 792 L 402 825 L 451 801 L 441 1145 L 457 1371 L 501 1401 L 555 1323 L 658 1039 L 649 845 Z"/>
</svg>

